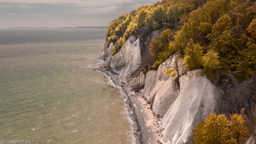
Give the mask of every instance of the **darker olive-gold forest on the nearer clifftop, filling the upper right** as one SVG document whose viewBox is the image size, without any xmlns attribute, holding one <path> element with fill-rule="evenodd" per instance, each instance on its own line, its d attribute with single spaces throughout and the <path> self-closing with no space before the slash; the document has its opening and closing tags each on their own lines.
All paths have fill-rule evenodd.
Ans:
<svg viewBox="0 0 256 144">
<path fill-rule="evenodd" d="M 175 45 L 183 56 L 190 39 L 201 45 L 203 54 L 213 49 L 219 55 L 213 65 L 225 73 L 233 71 L 238 81 L 247 80 L 256 70 L 255 9 L 251 0 L 209 0 L 181 20 L 184 23 L 174 36 Z M 206 75 L 217 76 L 216 68 L 205 66 Z"/>
</svg>

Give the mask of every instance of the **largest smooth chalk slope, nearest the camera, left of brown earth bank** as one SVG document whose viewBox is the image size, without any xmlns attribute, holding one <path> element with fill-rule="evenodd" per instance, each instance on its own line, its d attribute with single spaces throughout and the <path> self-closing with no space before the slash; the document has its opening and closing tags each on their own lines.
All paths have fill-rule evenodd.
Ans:
<svg viewBox="0 0 256 144">
<path fill-rule="evenodd" d="M 197 121 L 214 112 L 216 88 L 201 70 L 179 78 L 180 93 L 162 119 L 163 140 L 168 144 L 190 143 Z"/>
</svg>

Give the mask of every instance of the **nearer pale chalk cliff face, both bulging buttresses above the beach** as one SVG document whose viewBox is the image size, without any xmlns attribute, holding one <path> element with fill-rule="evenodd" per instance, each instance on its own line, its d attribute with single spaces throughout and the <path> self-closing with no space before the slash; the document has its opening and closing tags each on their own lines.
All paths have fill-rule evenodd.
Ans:
<svg viewBox="0 0 256 144">
<path fill-rule="evenodd" d="M 214 112 L 218 90 L 206 76 L 201 76 L 201 70 L 186 72 L 180 59 L 179 73 L 183 75 L 174 78 L 166 75 L 174 58 L 162 63 L 158 71 L 146 74 L 144 97 L 151 103 L 153 113 L 163 117 L 160 126 L 163 140 L 167 144 L 190 143 L 196 123 Z"/>
</svg>

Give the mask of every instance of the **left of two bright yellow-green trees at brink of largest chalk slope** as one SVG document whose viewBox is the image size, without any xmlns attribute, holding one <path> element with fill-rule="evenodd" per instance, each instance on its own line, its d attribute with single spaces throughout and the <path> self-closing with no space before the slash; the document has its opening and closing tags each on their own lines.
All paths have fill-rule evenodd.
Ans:
<svg viewBox="0 0 256 144">
<path fill-rule="evenodd" d="M 192 39 L 187 44 L 183 63 L 187 69 L 200 68 L 203 62 L 203 49 L 198 43 L 194 43 Z"/>
</svg>

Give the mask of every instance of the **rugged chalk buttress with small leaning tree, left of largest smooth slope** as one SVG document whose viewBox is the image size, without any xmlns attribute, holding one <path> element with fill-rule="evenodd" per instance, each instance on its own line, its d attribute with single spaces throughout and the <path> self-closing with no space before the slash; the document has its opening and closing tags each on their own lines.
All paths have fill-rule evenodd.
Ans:
<svg viewBox="0 0 256 144">
<path fill-rule="evenodd" d="M 171 56 L 159 66 L 157 71 L 150 71 L 146 75 L 144 97 L 148 103 L 151 103 L 155 116 L 164 117 L 179 94 L 179 84 L 175 82 L 178 74 L 175 77 L 165 74 L 166 70 L 175 65 L 176 58 L 175 55 Z M 177 58 L 177 65 L 181 67 L 179 73 L 182 74 L 185 71 L 183 60 Z"/>
</svg>

